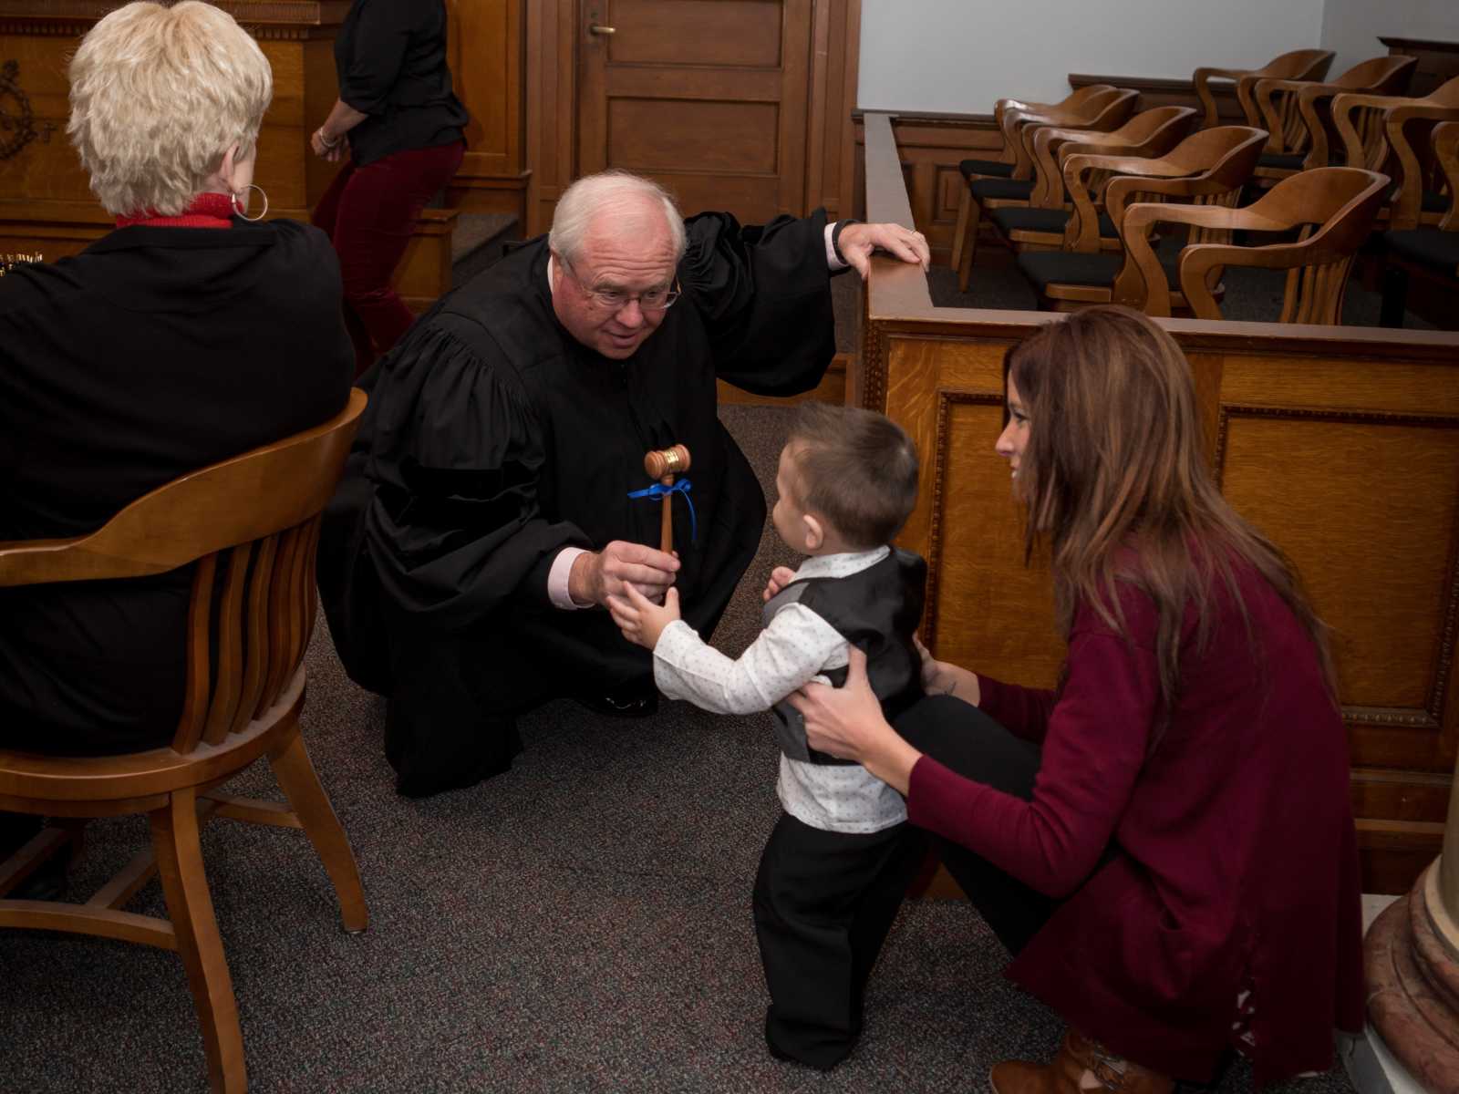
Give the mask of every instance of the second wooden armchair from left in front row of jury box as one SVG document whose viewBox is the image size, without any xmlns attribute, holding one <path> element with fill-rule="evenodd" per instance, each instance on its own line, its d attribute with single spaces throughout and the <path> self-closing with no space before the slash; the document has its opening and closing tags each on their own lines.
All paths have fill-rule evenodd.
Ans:
<svg viewBox="0 0 1459 1094">
<path fill-rule="evenodd" d="M 999 238 L 1015 251 L 1056 251 L 1064 245 L 1072 217 L 1064 185 L 1062 160 L 1071 155 L 1156 158 L 1174 149 L 1196 121 L 1192 106 L 1156 106 L 1137 114 L 1112 133 L 1090 133 L 1053 125 L 1033 134 L 1034 187 L 1027 207 L 1007 206 L 988 214 Z M 1102 190 L 1103 179 L 1090 182 Z M 973 232 L 976 235 L 976 226 Z M 1107 216 L 1100 216 L 1102 244 L 1119 249 L 1119 236 Z"/>
</svg>

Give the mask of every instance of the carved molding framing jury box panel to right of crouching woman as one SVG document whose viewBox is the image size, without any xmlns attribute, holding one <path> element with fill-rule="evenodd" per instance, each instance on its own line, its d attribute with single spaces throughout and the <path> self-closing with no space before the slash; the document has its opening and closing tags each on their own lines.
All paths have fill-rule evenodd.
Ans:
<svg viewBox="0 0 1459 1094">
<path fill-rule="evenodd" d="M 1332 422 L 1341 424 L 1411 426 L 1418 429 L 1459 429 L 1459 417 L 1452 414 L 1405 414 L 1385 410 L 1336 410 L 1329 407 L 1262 407 L 1223 403 L 1215 429 L 1215 484 L 1223 486 L 1226 446 L 1233 417 L 1285 422 Z M 1224 492 L 1223 492 L 1224 493 Z M 935 519 L 935 516 L 934 516 Z M 1449 588 L 1444 592 L 1444 616 L 1439 635 L 1439 664 L 1434 667 L 1428 702 L 1421 710 L 1405 707 L 1344 706 L 1342 718 L 1361 725 L 1393 725 L 1411 729 L 1443 729 L 1444 696 L 1453 674 L 1455 646 L 1459 643 L 1459 556 L 1450 556 Z"/>
</svg>

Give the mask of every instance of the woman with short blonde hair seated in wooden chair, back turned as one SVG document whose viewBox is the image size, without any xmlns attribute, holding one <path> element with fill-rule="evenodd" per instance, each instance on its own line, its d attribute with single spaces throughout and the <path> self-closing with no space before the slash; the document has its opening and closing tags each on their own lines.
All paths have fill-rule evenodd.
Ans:
<svg viewBox="0 0 1459 1094">
<path fill-rule="evenodd" d="M 187 471 L 314 426 L 353 373 L 328 238 L 258 222 L 273 76 L 232 16 L 120 7 L 82 39 L 70 83 L 67 131 L 117 228 L 0 279 L 0 541 L 79 535 Z M 0 589 L 0 747 L 166 742 L 188 579 Z M 0 856 L 25 834 L 7 820 Z"/>
</svg>

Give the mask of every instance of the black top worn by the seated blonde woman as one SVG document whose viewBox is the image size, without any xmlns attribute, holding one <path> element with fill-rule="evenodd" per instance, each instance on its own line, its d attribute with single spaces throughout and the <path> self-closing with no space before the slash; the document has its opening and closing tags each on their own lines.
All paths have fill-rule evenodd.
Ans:
<svg viewBox="0 0 1459 1094">
<path fill-rule="evenodd" d="M 0 277 L 0 540 L 79 535 L 178 476 L 338 413 L 328 238 L 292 220 L 123 228 Z M 0 745 L 165 742 L 190 573 L 0 589 Z"/>
</svg>

